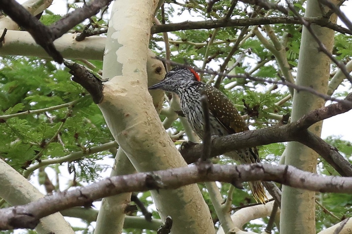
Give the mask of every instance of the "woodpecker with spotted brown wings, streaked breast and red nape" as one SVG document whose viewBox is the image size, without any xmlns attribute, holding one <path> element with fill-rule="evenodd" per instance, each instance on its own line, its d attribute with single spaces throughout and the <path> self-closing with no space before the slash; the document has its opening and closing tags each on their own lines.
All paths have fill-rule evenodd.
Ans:
<svg viewBox="0 0 352 234">
<path fill-rule="evenodd" d="M 165 78 L 149 87 L 176 93 L 180 97 L 181 110 L 193 131 L 203 139 L 204 118 L 201 96 L 206 95 L 209 103 L 209 122 L 211 135 L 224 136 L 248 130 L 245 121 L 238 113 L 230 99 L 219 89 L 200 81 L 199 75 L 192 68 L 174 67 L 165 74 Z M 260 162 L 256 147 L 240 149 L 226 153 L 241 164 Z M 265 203 L 265 195 L 260 181 L 249 182 L 254 199 Z"/>
</svg>

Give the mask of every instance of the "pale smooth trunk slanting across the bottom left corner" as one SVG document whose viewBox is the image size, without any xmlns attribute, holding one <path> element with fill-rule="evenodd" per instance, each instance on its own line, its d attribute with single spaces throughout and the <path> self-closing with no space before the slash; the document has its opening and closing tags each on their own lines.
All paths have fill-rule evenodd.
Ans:
<svg viewBox="0 0 352 234">
<path fill-rule="evenodd" d="M 0 159 L 0 197 L 10 205 L 16 206 L 36 201 L 43 198 L 44 194 L 40 193 L 27 179 Z M 50 232 L 56 234 L 75 233 L 60 213 L 40 219 L 36 231 L 39 234 Z"/>
</svg>

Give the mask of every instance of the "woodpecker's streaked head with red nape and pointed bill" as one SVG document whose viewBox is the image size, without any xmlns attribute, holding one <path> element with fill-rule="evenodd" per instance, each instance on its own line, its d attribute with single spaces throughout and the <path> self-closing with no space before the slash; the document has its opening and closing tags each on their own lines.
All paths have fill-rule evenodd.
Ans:
<svg viewBox="0 0 352 234">
<path fill-rule="evenodd" d="M 184 87 L 198 81 L 200 81 L 200 77 L 192 68 L 177 66 L 166 73 L 162 81 L 150 86 L 148 89 L 162 89 L 180 94 Z"/>
</svg>

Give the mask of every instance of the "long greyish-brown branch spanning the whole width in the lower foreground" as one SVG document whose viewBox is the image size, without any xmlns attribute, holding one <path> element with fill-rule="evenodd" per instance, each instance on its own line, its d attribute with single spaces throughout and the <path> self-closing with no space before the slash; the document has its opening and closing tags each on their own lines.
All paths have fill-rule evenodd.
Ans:
<svg viewBox="0 0 352 234">
<path fill-rule="evenodd" d="M 220 181 L 240 185 L 244 181 L 275 181 L 318 192 L 352 193 L 352 178 L 322 176 L 292 166 L 255 163 L 173 168 L 103 179 L 86 187 L 45 196 L 27 205 L 0 210 L 0 230 L 34 228 L 40 218 L 75 206 L 90 206 L 94 200 L 126 192 L 174 189 L 192 183 Z"/>
</svg>

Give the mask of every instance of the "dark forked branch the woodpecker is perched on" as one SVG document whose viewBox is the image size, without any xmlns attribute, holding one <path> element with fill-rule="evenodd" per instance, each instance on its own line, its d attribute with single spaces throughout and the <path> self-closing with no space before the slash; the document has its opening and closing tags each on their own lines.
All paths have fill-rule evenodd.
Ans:
<svg viewBox="0 0 352 234">
<path fill-rule="evenodd" d="M 352 101 L 352 93 L 348 94 L 345 100 Z M 210 156 L 214 157 L 240 148 L 297 141 L 320 154 L 342 176 L 352 176 L 351 163 L 339 154 L 335 147 L 330 146 L 320 137 L 307 131 L 307 128 L 314 123 L 345 113 L 351 108 L 351 106 L 343 103 L 331 104 L 312 111 L 302 116 L 298 121 L 287 125 L 275 125 L 215 138 L 212 140 Z M 199 159 L 201 152 L 202 144 L 183 144 L 180 148 L 180 153 L 187 163 L 193 163 Z"/>
</svg>

